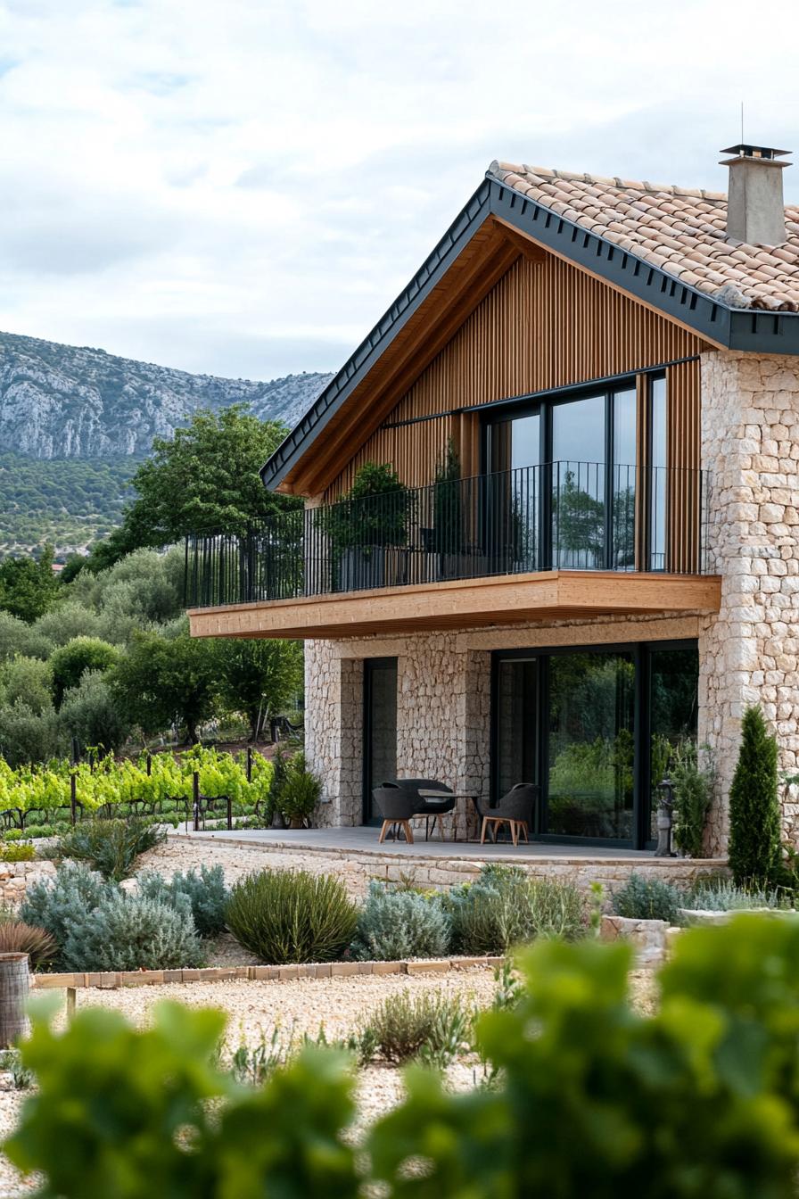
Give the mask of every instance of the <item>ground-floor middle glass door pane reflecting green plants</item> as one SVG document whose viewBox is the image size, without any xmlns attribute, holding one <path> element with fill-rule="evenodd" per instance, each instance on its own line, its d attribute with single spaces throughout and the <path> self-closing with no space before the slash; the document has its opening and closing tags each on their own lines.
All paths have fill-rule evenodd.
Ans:
<svg viewBox="0 0 799 1199">
<path fill-rule="evenodd" d="M 630 653 L 550 658 L 547 832 L 632 837 L 634 699 Z"/>
</svg>

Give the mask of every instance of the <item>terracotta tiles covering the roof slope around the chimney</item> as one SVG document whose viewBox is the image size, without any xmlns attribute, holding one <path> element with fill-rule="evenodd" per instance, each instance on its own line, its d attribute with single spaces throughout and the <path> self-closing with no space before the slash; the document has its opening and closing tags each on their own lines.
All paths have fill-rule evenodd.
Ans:
<svg viewBox="0 0 799 1199">
<path fill-rule="evenodd" d="M 730 287 L 750 308 L 799 311 L 799 207 L 785 210 L 785 245 L 746 246 L 726 236 L 724 192 L 508 162 L 489 174 L 698 291 Z"/>
</svg>

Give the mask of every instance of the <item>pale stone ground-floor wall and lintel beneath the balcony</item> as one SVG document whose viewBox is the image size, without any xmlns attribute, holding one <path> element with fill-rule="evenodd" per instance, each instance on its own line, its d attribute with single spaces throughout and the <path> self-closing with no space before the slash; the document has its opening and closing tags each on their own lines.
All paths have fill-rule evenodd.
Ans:
<svg viewBox="0 0 799 1199">
<path fill-rule="evenodd" d="M 322 777 L 322 825 L 357 825 L 363 812 L 363 659 L 397 657 L 398 775 L 436 778 L 488 800 L 491 651 L 696 638 L 698 615 L 555 621 L 408 637 L 307 641 L 305 752 Z M 459 835 L 470 806 L 459 806 Z"/>
</svg>

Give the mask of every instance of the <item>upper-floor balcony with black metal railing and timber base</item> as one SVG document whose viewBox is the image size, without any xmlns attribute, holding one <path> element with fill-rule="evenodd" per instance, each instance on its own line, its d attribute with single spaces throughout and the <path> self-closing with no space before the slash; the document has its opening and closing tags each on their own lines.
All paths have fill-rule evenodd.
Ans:
<svg viewBox="0 0 799 1199">
<path fill-rule="evenodd" d="M 340 637 L 718 610 L 701 471 L 556 462 L 283 513 L 186 544 L 199 635 Z"/>
</svg>

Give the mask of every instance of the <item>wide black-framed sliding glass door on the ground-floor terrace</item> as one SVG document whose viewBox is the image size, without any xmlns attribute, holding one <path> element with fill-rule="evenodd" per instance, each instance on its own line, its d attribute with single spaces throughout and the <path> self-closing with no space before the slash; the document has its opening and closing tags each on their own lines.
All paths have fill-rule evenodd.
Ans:
<svg viewBox="0 0 799 1199">
<path fill-rule="evenodd" d="M 674 748 L 696 735 L 696 643 L 495 655 L 492 791 L 541 788 L 535 835 L 643 848 Z"/>
</svg>

